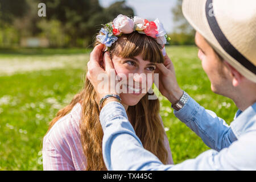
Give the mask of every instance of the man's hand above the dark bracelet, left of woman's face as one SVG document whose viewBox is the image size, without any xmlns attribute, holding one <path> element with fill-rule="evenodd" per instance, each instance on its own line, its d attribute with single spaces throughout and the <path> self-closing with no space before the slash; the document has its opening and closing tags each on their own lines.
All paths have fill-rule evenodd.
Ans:
<svg viewBox="0 0 256 182">
<path fill-rule="evenodd" d="M 90 60 L 87 63 L 88 72 L 86 76 L 97 93 L 98 102 L 107 94 L 119 95 L 118 92 L 115 91 L 115 70 L 113 68 L 112 59 L 109 52 L 102 52 L 104 48 L 104 44 L 96 46 L 90 53 Z M 100 63 L 102 55 L 104 55 L 103 65 Z M 105 67 L 105 70 L 103 67 Z M 112 78 L 112 80 L 110 80 L 110 78 Z"/>
</svg>

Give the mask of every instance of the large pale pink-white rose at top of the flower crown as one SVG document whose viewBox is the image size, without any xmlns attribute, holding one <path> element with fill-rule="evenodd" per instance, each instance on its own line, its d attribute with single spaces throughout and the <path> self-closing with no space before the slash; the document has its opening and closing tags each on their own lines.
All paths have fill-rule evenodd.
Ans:
<svg viewBox="0 0 256 182">
<path fill-rule="evenodd" d="M 113 24 L 115 28 L 118 28 L 119 31 L 125 34 L 130 34 L 133 32 L 133 20 L 125 15 L 118 15 L 117 18 L 113 20 Z"/>
</svg>

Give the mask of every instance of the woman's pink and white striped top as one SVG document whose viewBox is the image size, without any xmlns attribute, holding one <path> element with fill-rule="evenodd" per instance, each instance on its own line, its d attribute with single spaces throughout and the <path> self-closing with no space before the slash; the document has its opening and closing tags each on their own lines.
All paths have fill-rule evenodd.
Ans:
<svg viewBox="0 0 256 182">
<path fill-rule="evenodd" d="M 81 104 L 60 118 L 43 138 L 44 170 L 85 170 L 86 156 L 82 151 L 79 123 Z M 166 137 L 164 144 L 168 151 L 168 164 L 173 164 L 172 154 Z"/>
</svg>

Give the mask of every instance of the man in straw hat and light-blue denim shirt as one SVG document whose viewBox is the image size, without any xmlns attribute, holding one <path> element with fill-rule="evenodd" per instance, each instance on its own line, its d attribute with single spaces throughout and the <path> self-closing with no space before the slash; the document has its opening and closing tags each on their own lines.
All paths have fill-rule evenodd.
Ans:
<svg viewBox="0 0 256 182">
<path fill-rule="evenodd" d="M 164 165 L 145 150 L 116 98 L 103 104 L 103 155 L 110 170 L 256 170 L 256 2 L 254 0 L 184 0 L 183 14 L 196 29 L 198 56 L 214 93 L 231 98 L 238 107 L 230 126 L 205 110 L 177 85 L 168 56 L 159 64 L 159 90 L 172 103 L 174 114 L 212 150 L 176 165 Z M 98 65 L 103 46 L 88 63 L 88 78 L 97 90 L 98 73 L 112 67 L 105 53 L 106 71 Z M 105 93 L 98 96 L 104 97 Z M 113 94 L 113 93 L 112 93 Z M 116 94 L 116 93 L 114 93 Z"/>
</svg>

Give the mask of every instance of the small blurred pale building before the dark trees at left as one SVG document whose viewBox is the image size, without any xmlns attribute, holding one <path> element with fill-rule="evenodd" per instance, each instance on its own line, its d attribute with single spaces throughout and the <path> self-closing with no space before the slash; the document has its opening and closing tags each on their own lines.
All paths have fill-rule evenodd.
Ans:
<svg viewBox="0 0 256 182">
<path fill-rule="evenodd" d="M 20 39 L 20 47 L 40 48 L 49 47 L 49 40 L 46 38 L 22 38 Z"/>
</svg>

